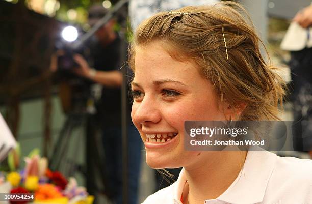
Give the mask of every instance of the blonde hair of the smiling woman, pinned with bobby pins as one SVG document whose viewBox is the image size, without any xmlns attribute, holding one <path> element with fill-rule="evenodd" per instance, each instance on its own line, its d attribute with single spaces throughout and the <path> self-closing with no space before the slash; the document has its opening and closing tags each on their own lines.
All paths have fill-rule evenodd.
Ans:
<svg viewBox="0 0 312 204">
<path fill-rule="evenodd" d="M 188 6 L 148 18 L 137 28 L 129 48 L 134 72 L 136 47 L 153 42 L 163 42 L 176 60 L 195 62 L 221 102 L 237 110 L 246 104 L 240 120 L 279 120 L 284 82 L 274 71 L 277 68 L 261 56 L 259 43 L 263 43 L 239 4 Z"/>
</svg>

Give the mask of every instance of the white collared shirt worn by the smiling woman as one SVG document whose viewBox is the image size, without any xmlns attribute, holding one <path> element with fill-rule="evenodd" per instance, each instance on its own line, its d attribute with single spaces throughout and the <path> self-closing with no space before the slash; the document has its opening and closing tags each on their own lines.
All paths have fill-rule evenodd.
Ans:
<svg viewBox="0 0 312 204">
<path fill-rule="evenodd" d="M 143 204 L 181 204 L 186 181 L 182 169 L 176 182 Z M 218 198 L 203 204 L 225 203 L 312 204 L 312 160 L 250 151 L 236 180 Z"/>
</svg>

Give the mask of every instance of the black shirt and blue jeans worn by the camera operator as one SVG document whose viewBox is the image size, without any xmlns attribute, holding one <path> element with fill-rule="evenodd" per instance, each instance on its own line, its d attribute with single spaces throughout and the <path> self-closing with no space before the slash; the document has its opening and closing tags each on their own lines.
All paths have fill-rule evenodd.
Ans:
<svg viewBox="0 0 312 204">
<path fill-rule="evenodd" d="M 119 70 L 121 39 L 116 39 L 106 47 L 98 45 L 91 51 L 94 68 L 99 71 Z M 125 68 L 125 67 L 124 67 Z M 128 79 L 127 79 L 128 80 Z M 129 97 L 127 97 L 129 99 Z M 128 203 L 137 204 L 138 181 L 141 164 L 141 139 L 131 121 L 131 102 L 127 101 L 128 135 Z M 98 104 L 102 124 L 102 142 L 106 156 L 106 170 L 109 192 L 116 204 L 122 203 L 122 136 L 121 136 L 121 89 L 103 86 Z"/>
</svg>

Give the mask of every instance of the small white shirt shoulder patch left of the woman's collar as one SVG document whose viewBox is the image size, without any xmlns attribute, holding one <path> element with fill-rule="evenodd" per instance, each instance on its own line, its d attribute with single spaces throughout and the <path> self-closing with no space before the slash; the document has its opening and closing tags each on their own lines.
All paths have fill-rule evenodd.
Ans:
<svg viewBox="0 0 312 204">
<path fill-rule="evenodd" d="M 142 204 L 159 204 L 173 202 L 173 192 L 176 182 L 148 196 Z"/>
</svg>

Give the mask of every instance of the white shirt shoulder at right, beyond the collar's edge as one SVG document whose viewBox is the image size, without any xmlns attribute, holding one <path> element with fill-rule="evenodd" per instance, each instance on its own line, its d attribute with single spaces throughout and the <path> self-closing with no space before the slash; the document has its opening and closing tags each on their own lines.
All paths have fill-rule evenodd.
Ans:
<svg viewBox="0 0 312 204">
<path fill-rule="evenodd" d="M 312 200 L 312 160 L 276 156 L 266 188 L 268 203 L 307 203 Z M 267 203 L 267 202 L 265 202 Z"/>
</svg>

